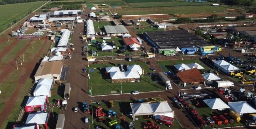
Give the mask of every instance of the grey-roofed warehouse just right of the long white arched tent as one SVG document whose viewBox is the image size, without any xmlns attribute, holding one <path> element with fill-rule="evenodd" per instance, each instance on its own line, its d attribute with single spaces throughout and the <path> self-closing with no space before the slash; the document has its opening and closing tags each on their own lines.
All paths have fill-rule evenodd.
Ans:
<svg viewBox="0 0 256 129">
<path fill-rule="evenodd" d="M 105 31 L 108 36 L 117 34 L 118 36 L 129 33 L 129 31 L 123 26 L 123 25 L 117 25 L 117 26 L 104 26 Z"/>
</svg>

